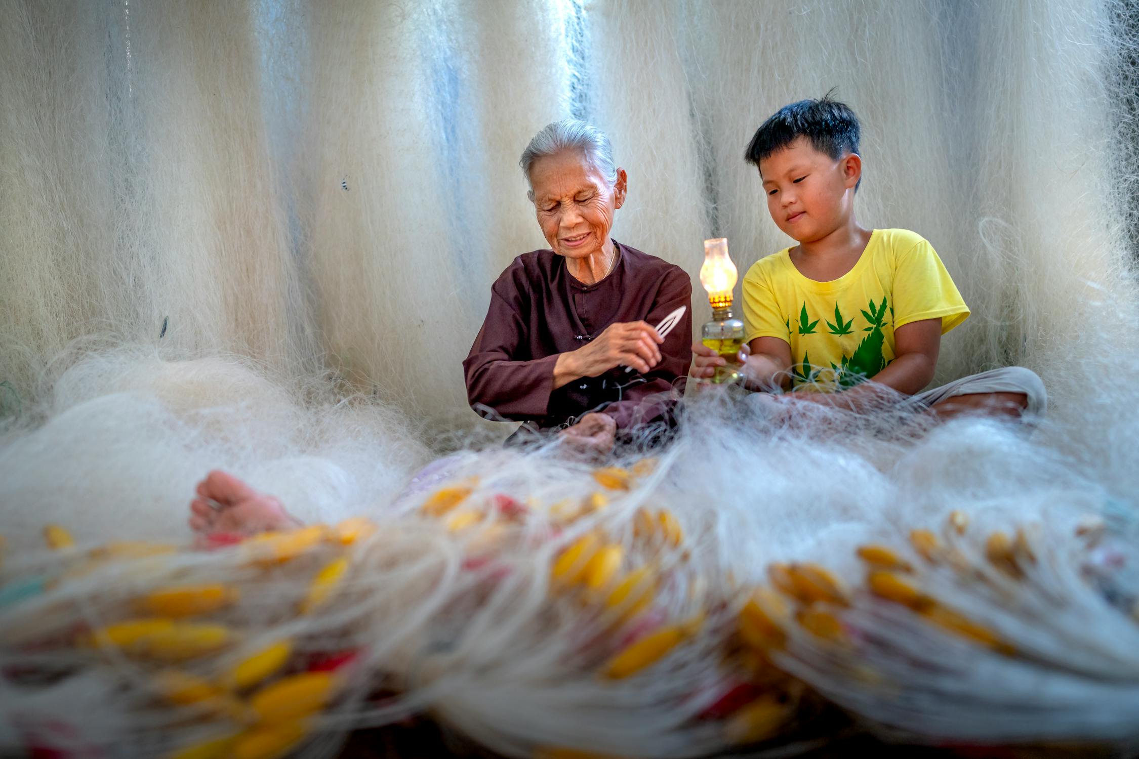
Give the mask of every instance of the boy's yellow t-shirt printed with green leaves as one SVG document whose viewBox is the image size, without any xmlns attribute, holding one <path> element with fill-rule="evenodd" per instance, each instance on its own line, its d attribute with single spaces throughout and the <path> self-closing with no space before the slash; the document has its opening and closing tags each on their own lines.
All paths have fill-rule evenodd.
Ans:
<svg viewBox="0 0 1139 759">
<path fill-rule="evenodd" d="M 944 335 L 969 307 L 920 234 L 874 230 L 858 263 L 830 282 L 804 277 L 785 248 L 744 277 L 745 340 L 777 337 L 790 345 L 793 388 L 852 387 L 894 360 L 894 330 L 941 317 Z"/>
</svg>

